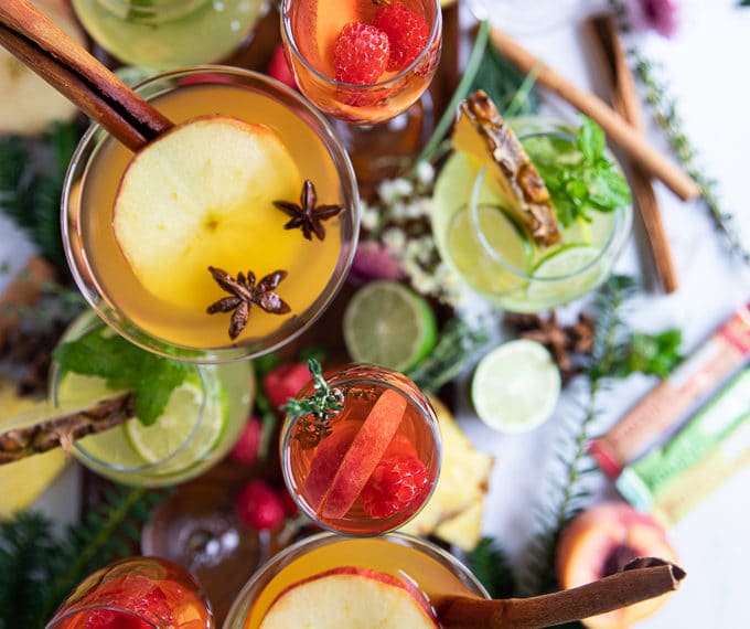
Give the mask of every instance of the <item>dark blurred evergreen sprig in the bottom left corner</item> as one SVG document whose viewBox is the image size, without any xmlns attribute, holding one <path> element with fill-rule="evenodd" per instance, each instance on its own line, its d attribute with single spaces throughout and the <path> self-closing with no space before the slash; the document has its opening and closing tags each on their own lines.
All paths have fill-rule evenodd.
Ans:
<svg viewBox="0 0 750 629">
<path fill-rule="evenodd" d="M 168 494 L 111 486 L 61 539 L 36 512 L 0 524 L 0 629 L 42 629 L 87 575 L 133 554 L 142 524 Z"/>
</svg>

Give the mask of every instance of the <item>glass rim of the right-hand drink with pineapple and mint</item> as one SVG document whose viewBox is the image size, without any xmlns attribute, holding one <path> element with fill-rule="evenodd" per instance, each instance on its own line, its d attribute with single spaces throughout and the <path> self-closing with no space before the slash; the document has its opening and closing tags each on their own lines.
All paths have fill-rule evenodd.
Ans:
<svg viewBox="0 0 750 629">
<path fill-rule="evenodd" d="M 539 122 L 546 124 L 546 125 L 553 125 L 555 127 L 559 127 L 558 130 L 539 130 L 539 131 L 533 131 L 533 132 L 519 132 L 518 134 L 518 140 L 527 140 L 527 139 L 533 139 L 533 138 L 545 138 L 545 137 L 554 137 L 556 139 L 562 139 L 562 140 L 568 140 L 572 141 L 575 143 L 575 138 L 562 130 L 565 128 L 565 125 L 561 122 L 558 122 L 557 120 L 547 118 L 545 116 L 538 116 L 538 117 L 526 117 L 526 118 L 515 118 L 512 119 L 508 124 L 513 126 L 514 124 L 517 124 L 518 121 L 522 120 L 538 120 Z M 622 173 L 622 166 L 620 162 L 617 160 L 617 158 L 608 150 L 608 157 L 609 159 L 614 163 L 615 168 Z M 519 269 L 515 267 L 514 265 L 510 264 L 507 260 L 503 258 L 502 255 L 500 255 L 490 244 L 490 242 L 486 238 L 486 235 L 484 234 L 483 230 L 481 228 L 480 222 L 479 222 L 479 206 L 481 205 L 479 203 L 479 195 L 480 191 L 482 189 L 482 182 L 484 179 L 484 175 L 486 173 L 486 167 L 483 167 L 480 173 L 476 175 L 476 179 L 474 180 L 474 184 L 472 186 L 472 194 L 471 199 L 469 201 L 469 204 L 467 209 L 469 210 L 471 214 L 471 220 L 472 220 L 472 225 L 476 230 L 476 235 L 479 237 L 480 244 L 482 245 L 482 249 L 484 253 L 486 253 L 493 262 L 497 263 L 501 265 L 505 270 L 508 273 L 512 273 L 513 275 L 523 278 L 525 280 L 533 280 L 533 281 L 539 281 L 539 282 L 553 282 L 553 281 L 560 281 L 560 280 L 566 280 L 566 279 L 571 279 L 574 277 L 577 277 L 579 275 L 585 274 L 587 270 L 594 268 L 598 264 L 601 263 L 601 260 L 609 255 L 615 256 L 618 250 L 622 247 L 624 242 L 628 238 L 629 234 L 629 216 L 632 215 L 632 204 L 624 206 L 624 207 L 618 207 L 612 211 L 612 214 L 614 215 L 614 224 L 612 225 L 612 231 L 610 232 L 607 242 L 602 245 L 600 252 L 591 258 L 589 262 L 587 262 L 585 265 L 578 267 L 575 270 L 571 270 L 569 273 L 562 274 L 562 275 L 548 275 L 548 276 L 538 276 L 535 275 L 533 271 L 527 271 L 524 269 Z M 624 177 L 624 174 L 623 174 Z M 560 250 L 560 249 L 558 249 Z M 556 252 L 555 252 L 556 253 Z M 555 255 L 553 253 L 553 255 Z"/>
</svg>

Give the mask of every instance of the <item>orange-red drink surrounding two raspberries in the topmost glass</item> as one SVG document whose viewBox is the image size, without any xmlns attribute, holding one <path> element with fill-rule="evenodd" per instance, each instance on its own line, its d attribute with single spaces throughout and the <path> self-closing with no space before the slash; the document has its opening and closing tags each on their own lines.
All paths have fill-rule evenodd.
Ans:
<svg viewBox="0 0 750 629">
<path fill-rule="evenodd" d="M 322 111 L 358 125 L 394 118 L 427 89 L 440 58 L 442 14 L 437 0 L 398 0 L 420 15 L 429 30 L 425 47 L 397 72 L 384 72 L 373 84 L 336 81 L 333 49 L 350 22 L 372 23 L 378 3 L 372 0 L 285 0 L 281 35 L 302 93 Z"/>
</svg>

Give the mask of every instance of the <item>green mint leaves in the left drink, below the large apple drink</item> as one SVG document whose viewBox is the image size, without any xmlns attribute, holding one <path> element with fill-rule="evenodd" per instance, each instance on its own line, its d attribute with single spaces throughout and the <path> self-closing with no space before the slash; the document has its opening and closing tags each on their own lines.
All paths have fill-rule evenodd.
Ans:
<svg viewBox="0 0 750 629">
<path fill-rule="evenodd" d="M 104 379 L 113 391 L 136 393 L 136 415 L 152 425 L 164 412 L 172 391 L 195 367 L 141 350 L 106 329 L 62 343 L 52 352 L 62 374 L 73 372 Z"/>
</svg>

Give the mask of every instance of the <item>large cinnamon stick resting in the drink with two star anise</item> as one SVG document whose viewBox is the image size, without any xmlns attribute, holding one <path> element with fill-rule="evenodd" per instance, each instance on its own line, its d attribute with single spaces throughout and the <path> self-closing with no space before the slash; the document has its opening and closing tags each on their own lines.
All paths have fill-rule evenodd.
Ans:
<svg viewBox="0 0 750 629">
<path fill-rule="evenodd" d="M 172 126 L 29 0 L 0 3 L 0 44 L 132 150 Z"/>
</svg>

